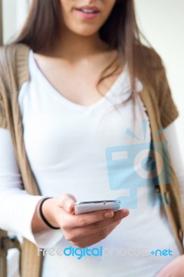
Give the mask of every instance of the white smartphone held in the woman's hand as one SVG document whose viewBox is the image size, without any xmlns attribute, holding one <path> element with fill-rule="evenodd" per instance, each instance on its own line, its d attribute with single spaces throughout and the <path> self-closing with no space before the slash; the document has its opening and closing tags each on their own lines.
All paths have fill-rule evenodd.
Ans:
<svg viewBox="0 0 184 277">
<path fill-rule="evenodd" d="M 100 210 L 112 210 L 116 212 L 120 209 L 119 200 L 101 200 L 101 201 L 89 201 L 89 202 L 76 202 L 74 204 L 74 213 L 79 215 L 80 213 L 89 213 Z"/>
</svg>

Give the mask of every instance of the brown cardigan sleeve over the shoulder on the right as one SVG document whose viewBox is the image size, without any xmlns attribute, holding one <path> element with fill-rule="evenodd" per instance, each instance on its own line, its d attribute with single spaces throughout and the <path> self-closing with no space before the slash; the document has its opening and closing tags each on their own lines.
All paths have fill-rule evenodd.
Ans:
<svg viewBox="0 0 184 277">
<path fill-rule="evenodd" d="M 144 82 L 153 107 L 160 114 L 163 127 L 167 127 L 178 116 L 178 110 L 169 88 L 165 66 L 160 55 L 152 48 L 136 48 L 136 74 Z"/>
</svg>

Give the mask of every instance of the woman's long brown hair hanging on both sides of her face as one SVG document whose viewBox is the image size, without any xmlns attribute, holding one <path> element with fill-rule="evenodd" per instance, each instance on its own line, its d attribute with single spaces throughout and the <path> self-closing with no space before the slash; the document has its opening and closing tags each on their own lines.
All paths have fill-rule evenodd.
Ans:
<svg viewBox="0 0 184 277">
<path fill-rule="evenodd" d="M 15 43 L 26 44 L 34 52 L 46 54 L 60 37 L 61 19 L 60 0 L 33 0 L 26 24 L 24 24 L 21 33 L 15 39 Z M 140 31 L 136 23 L 134 0 L 116 0 L 111 15 L 100 28 L 99 33 L 101 39 L 107 42 L 111 48 L 118 50 L 119 56 L 123 57 L 128 64 L 131 84 L 134 90 L 136 68 L 146 72 L 146 67 L 149 66 L 145 56 L 145 47 L 142 47 L 140 42 Z M 113 60 L 107 69 L 111 68 L 114 62 L 116 60 Z M 107 69 L 102 72 L 98 84 L 117 70 L 116 68 L 105 76 L 104 72 Z"/>
</svg>

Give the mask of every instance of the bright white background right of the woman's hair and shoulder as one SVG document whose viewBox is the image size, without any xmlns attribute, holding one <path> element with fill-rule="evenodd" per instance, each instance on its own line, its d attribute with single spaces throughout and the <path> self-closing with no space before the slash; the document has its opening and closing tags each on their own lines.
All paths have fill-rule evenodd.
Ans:
<svg viewBox="0 0 184 277">
<path fill-rule="evenodd" d="M 180 112 L 176 120 L 184 157 L 184 0 L 135 0 L 142 33 L 163 58 L 174 101 Z"/>
</svg>

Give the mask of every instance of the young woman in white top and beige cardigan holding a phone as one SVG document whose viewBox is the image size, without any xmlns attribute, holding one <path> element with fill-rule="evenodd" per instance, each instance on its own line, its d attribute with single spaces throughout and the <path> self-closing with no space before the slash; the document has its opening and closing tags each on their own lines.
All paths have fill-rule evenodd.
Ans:
<svg viewBox="0 0 184 277">
<path fill-rule="evenodd" d="M 0 227 L 24 237 L 22 276 L 184 276 L 178 112 L 134 1 L 34 0 L 0 57 Z M 73 214 L 102 199 L 120 211 Z"/>
</svg>

